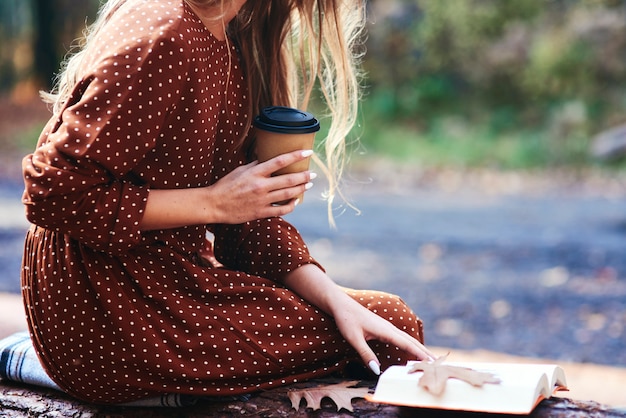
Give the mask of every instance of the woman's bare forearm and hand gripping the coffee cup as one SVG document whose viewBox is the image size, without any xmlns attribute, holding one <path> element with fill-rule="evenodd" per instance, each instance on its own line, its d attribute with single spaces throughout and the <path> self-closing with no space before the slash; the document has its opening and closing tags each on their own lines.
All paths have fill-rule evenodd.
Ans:
<svg viewBox="0 0 626 418">
<path fill-rule="evenodd" d="M 215 184 L 195 189 L 151 190 L 141 228 L 178 228 L 187 225 L 240 224 L 283 216 L 299 203 L 295 197 L 308 190 L 315 174 L 304 171 L 272 173 L 310 157 L 311 150 L 294 151 L 271 160 L 257 161 L 228 173 Z M 284 205 L 275 202 L 287 201 Z"/>
</svg>

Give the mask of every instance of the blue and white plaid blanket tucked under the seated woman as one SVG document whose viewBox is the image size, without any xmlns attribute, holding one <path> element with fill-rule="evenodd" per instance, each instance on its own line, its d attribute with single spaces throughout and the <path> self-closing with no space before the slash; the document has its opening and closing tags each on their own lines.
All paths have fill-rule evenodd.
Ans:
<svg viewBox="0 0 626 418">
<path fill-rule="evenodd" d="M 35 353 L 28 332 L 17 332 L 0 340 L 0 380 L 26 383 L 61 390 L 46 374 Z M 166 394 L 157 398 L 126 403 L 123 406 L 191 406 L 198 398 L 188 395 Z"/>
</svg>

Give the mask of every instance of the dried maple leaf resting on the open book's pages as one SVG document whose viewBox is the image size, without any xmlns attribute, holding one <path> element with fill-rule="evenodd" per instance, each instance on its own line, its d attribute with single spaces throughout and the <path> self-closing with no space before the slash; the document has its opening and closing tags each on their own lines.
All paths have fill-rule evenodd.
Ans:
<svg viewBox="0 0 626 418">
<path fill-rule="evenodd" d="M 417 362 L 411 367 L 409 373 L 424 372 L 418 384 L 436 396 L 443 393 L 448 379 L 460 379 L 473 386 L 482 386 L 485 383 L 500 383 L 500 379 L 491 373 L 443 364 L 446 357 L 439 357 L 434 362 Z"/>
</svg>

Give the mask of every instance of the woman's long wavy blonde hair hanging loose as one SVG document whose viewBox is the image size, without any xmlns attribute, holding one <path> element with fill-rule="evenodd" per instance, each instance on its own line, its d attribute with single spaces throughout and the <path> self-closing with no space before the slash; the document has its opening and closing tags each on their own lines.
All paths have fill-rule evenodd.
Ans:
<svg viewBox="0 0 626 418">
<path fill-rule="evenodd" d="M 111 15 L 129 0 L 103 3 L 95 22 L 64 61 L 55 87 L 44 100 L 60 112 L 80 79 L 80 65 L 91 41 Z M 226 10 L 232 0 L 184 0 L 197 8 Z M 220 19 L 220 15 L 215 16 Z M 306 110 L 320 96 L 330 119 L 317 165 L 329 183 L 328 215 L 341 191 L 346 138 L 357 120 L 360 100 L 360 41 L 365 27 L 363 0 L 248 0 L 226 28 L 246 69 L 251 118 L 265 106 Z M 345 199 L 344 199 L 345 200 Z"/>
</svg>

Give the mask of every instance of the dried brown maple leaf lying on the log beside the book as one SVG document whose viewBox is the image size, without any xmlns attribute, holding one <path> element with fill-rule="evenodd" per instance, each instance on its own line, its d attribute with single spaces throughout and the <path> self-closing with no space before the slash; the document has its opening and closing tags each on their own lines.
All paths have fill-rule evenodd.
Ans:
<svg viewBox="0 0 626 418">
<path fill-rule="evenodd" d="M 341 382 L 334 385 L 318 386 L 314 388 L 298 389 L 289 391 L 289 400 L 291 400 L 291 406 L 294 409 L 300 407 L 300 401 L 302 398 L 306 401 L 309 408 L 313 410 L 321 409 L 321 402 L 323 398 L 330 398 L 335 405 L 337 405 L 337 411 L 341 408 L 345 408 L 352 412 L 352 399 L 363 398 L 367 395 L 369 389 L 354 388 L 358 381 Z"/>
</svg>

